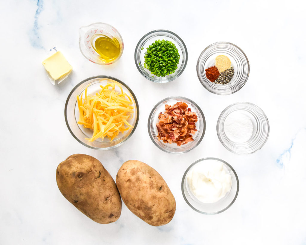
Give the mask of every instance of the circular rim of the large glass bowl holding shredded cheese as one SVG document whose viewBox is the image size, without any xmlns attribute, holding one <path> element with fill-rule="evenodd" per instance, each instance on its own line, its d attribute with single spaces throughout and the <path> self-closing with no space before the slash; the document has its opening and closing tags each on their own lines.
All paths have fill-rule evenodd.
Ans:
<svg viewBox="0 0 306 245">
<path fill-rule="evenodd" d="M 107 78 L 107 79 L 111 79 L 111 80 L 114 80 L 116 82 L 118 82 L 119 84 L 123 85 L 130 93 L 131 95 L 133 96 L 133 99 L 135 100 L 135 105 L 136 105 L 136 112 L 137 112 L 137 115 L 136 115 L 136 122 L 135 122 L 135 125 L 131 131 L 131 133 L 129 133 L 129 135 L 125 138 L 124 141 L 114 145 L 114 146 L 111 146 L 111 147 L 105 147 L 105 148 L 101 148 L 101 147 L 94 147 L 94 146 L 90 146 L 90 145 L 87 145 L 85 144 L 84 142 L 80 141 L 79 138 L 76 137 L 76 135 L 72 132 L 70 126 L 69 126 L 69 123 L 68 123 L 68 119 L 67 119 L 67 107 L 68 107 L 68 103 L 69 103 L 69 99 L 71 98 L 73 92 L 82 84 L 92 80 L 92 79 L 99 79 L 99 78 Z M 108 150 L 108 149 L 113 149 L 119 145 L 121 145 L 123 142 L 125 142 L 126 140 L 128 140 L 132 134 L 134 133 L 134 131 L 136 130 L 136 126 L 138 124 L 138 121 L 139 121 L 139 105 L 138 105 L 138 101 L 137 101 L 137 98 L 134 94 L 134 92 L 132 91 L 132 89 L 130 89 L 130 87 L 128 85 L 126 85 L 124 82 L 122 82 L 121 80 L 115 78 L 115 77 L 110 77 L 110 76 L 104 76 L 104 75 L 98 75 L 98 76 L 93 76 L 93 77 L 88 77 L 86 79 L 84 79 L 83 81 L 79 82 L 77 85 L 74 86 L 74 88 L 71 90 L 71 92 L 69 93 L 68 97 L 67 97 L 67 100 L 66 100 L 66 103 L 65 103 L 65 109 L 64 109 L 64 114 L 65 114 L 65 123 L 66 123 L 66 126 L 70 132 L 70 134 L 73 136 L 73 138 L 75 138 L 79 143 L 81 143 L 82 145 L 88 147 L 88 148 L 91 148 L 91 149 L 95 149 L 95 150 Z"/>
</svg>

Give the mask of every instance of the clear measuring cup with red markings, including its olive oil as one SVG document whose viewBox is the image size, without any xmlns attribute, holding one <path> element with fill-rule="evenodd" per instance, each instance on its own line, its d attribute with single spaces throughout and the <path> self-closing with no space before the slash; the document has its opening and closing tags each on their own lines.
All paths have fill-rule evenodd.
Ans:
<svg viewBox="0 0 306 245">
<path fill-rule="evenodd" d="M 123 53 L 123 40 L 116 28 L 106 23 L 94 23 L 79 29 L 82 55 L 99 65 L 110 65 Z"/>
</svg>

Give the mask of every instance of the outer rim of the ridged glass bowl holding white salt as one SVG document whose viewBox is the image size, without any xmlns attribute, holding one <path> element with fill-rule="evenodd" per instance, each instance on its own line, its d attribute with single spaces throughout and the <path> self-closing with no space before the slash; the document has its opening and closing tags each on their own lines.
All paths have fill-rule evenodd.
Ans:
<svg viewBox="0 0 306 245">
<path fill-rule="evenodd" d="M 246 104 L 246 105 L 249 105 L 251 107 L 256 107 L 257 109 L 259 109 L 259 111 L 262 113 L 263 115 L 263 118 L 267 121 L 267 128 L 268 128 L 268 132 L 267 132 L 267 136 L 263 142 L 263 144 L 258 148 L 258 149 L 255 149 L 253 150 L 252 152 L 247 152 L 247 153 L 237 153 L 236 151 L 234 151 L 233 149 L 229 148 L 227 145 L 224 144 L 223 140 L 221 140 L 220 138 L 220 133 L 219 133 L 219 126 L 220 126 L 220 121 L 221 121 L 221 117 L 225 114 L 225 112 L 230 109 L 231 107 L 235 106 L 235 105 L 242 105 L 242 104 Z M 244 109 L 242 109 L 244 110 Z M 219 141 L 221 142 L 221 144 L 226 148 L 228 149 L 230 152 L 232 153 L 235 153 L 235 154 L 238 154 L 238 155 L 247 155 L 247 154 L 252 154 L 252 153 L 255 153 L 256 151 L 258 151 L 259 149 L 261 149 L 267 142 L 268 138 L 269 138 L 269 134 L 270 134 L 270 123 L 269 123 L 269 120 L 267 118 L 267 115 L 266 113 L 264 113 L 264 111 L 257 105 L 253 104 L 253 103 L 250 103 L 250 102 L 244 102 L 244 101 L 241 101 L 241 102 L 236 102 L 236 103 L 233 103 L 233 104 L 230 104 L 229 106 L 227 106 L 219 115 L 218 117 L 218 121 L 217 121 L 217 125 L 216 125 L 216 129 L 217 129 L 217 135 L 218 135 L 218 139 Z"/>
</svg>

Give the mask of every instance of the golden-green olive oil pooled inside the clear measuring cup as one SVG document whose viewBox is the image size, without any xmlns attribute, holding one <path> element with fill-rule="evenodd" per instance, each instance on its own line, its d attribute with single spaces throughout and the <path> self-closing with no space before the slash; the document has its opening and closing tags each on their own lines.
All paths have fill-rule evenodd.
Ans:
<svg viewBox="0 0 306 245">
<path fill-rule="evenodd" d="M 115 37 L 98 34 L 91 38 L 91 45 L 105 62 L 111 62 L 120 55 L 120 44 Z"/>
</svg>

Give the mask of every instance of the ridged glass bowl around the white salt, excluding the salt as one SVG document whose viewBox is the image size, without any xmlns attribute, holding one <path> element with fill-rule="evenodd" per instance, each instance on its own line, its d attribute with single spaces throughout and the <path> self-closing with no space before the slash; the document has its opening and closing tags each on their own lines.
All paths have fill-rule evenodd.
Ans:
<svg viewBox="0 0 306 245">
<path fill-rule="evenodd" d="M 241 113 L 248 116 L 253 124 L 253 134 L 244 143 L 231 141 L 225 134 L 224 123 L 231 113 Z M 248 102 L 238 102 L 226 107 L 220 114 L 217 122 L 217 134 L 220 142 L 229 151 L 244 155 L 254 153 L 266 143 L 269 137 L 269 121 L 266 114 L 258 106 Z"/>
</svg>

